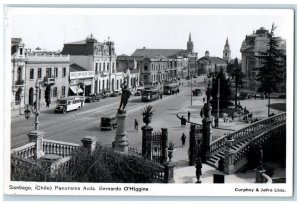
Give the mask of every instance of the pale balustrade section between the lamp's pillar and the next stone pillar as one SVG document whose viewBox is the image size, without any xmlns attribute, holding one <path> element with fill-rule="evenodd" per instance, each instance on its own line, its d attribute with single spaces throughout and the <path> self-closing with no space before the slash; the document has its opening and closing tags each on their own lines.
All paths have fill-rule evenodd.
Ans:
<svg viewBox="0 0 300 205">
<path fill-rule="evenodd" d="M 45 154 L 55 154 L 61 157 L 67 157 L 79 147 L 80 145 L 74 143 L 43 140 L 43 151 Z"/>
</svg>

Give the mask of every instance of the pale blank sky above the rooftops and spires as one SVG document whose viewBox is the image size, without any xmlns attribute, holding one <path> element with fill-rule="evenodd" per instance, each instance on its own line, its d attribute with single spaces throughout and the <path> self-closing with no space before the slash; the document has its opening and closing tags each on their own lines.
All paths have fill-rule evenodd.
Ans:
<svg viewBox="0 0 300 205">
<path fill-rule="evenodd" d="M 275 35 L 287 39 L 293 24 L 291 15 L 279 10 L 10 8 L 6 14 L 6 37 L 22 38 L 26 48 L 62 50 L 64 43 L 93 34 L 98 41 L 110 37 L 117 55 L 131 55 L 142 47 L 186 49 L 191 32 L 198 57 L 206 50 L 211 56 L 222 57 L 228 38 L 231 57 L 241 58 L 246 35 L 262 26 L 270 29 L 274 23 Z"/>
</svg>

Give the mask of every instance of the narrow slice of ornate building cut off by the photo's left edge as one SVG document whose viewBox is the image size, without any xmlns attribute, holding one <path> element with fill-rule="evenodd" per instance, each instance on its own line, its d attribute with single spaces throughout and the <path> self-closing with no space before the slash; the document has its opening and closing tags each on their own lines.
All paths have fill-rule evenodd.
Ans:
<svg viewBox="0 0 300 205">
<path fill-rule="evenodd" d="M 11 109 L 24 107 L 25 52 L 21 38 L 11 39 Z"/>
</svg>

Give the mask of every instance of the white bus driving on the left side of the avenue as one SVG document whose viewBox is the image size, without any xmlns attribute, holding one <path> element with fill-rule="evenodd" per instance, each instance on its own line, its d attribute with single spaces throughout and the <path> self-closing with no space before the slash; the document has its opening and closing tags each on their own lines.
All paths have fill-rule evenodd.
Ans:
<svg viewBox="0 0 300 205">
<path fill-rule="evenodd" d="M 66 113 L 72 110 L 79 110 L 84 106 L 84 99 L 79 96 L 70 96 L 57 100 L 54 112 Z"/>
</svg>

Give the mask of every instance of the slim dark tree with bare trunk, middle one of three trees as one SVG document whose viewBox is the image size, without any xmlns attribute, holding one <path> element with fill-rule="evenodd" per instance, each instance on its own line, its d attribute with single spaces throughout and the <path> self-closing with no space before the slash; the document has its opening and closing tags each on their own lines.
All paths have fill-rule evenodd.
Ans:
<svg viewBox="0 0 300 205">
<path fill-rule="evenodd" d="M 241 66 L 240 66 L 237 58 L 234 59 L 234 62 L 229 63 L 227 65 L 226 69 L 227 69 L 227 73 L 234 79 L 234 82 L 235 82 L 235 102 L 234 102 L 234 106 L 235 106 L 235 109 L 237 109 L 238 87 L 243 86 L 243 80 L 242 79 L 245 75 L 241 70 Z"/>
</svg>

